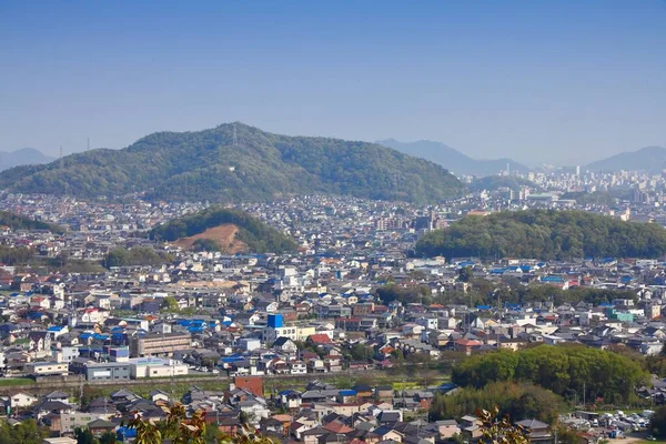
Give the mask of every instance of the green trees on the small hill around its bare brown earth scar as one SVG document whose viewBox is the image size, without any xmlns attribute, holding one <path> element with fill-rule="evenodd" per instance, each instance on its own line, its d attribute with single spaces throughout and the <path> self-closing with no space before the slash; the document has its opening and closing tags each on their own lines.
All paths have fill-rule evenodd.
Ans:
<svg viewBox="0 0 666 444">
<path fill-rule="evenodd" d="M 283 253 L 294 251 L 296 243 L 284 233 L 266 225 L 252 215 L 222 208 L 210 208 L 198 213 L 174 219 L 171 222 L 155 226 L 149 232 L 151 239 L 176 241 L 205 232 L 208 229 L 233 224 L 238 228 L 235 238 L 251 253 Z"/>
</svg>

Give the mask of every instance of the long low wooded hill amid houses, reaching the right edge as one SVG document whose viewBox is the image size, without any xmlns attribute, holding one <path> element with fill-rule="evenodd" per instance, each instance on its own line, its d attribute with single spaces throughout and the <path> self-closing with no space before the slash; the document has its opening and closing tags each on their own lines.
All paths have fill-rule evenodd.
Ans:
<svg viewBox="0 0 666 444">
<path fill-rule="evenodd" d="M 426 233 L 417 255 L 446 258 L 658 258 L 666 229 L 582 211 L 528 210 L 467 216 Z"/>
</svg>

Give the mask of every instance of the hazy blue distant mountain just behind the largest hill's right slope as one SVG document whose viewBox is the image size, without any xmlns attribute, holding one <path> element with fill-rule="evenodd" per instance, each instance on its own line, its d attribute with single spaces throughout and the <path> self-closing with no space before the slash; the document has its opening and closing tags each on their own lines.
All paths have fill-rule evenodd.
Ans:
<svg viewBox="0 0 666 444">
<path fill-rule="evenodd" d="M 526 173 L 529 169 L 511 159 L 476 160 L 441 142 L 420 140 L 417 142 L 400 142 L 395 139 L 380 140 L 377 143 L 393 148 L 405 154 L 415 155 L 443 165 L 456 175 L 492 175 L 506 170 Z"/>
</svg>

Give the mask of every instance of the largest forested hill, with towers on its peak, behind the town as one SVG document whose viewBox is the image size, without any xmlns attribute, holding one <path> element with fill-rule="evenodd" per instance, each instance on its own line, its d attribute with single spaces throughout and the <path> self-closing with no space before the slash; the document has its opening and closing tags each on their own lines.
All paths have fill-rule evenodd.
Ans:
<svg viewBox="0 0 666 444">
<path fill-rule="evenodd" d="M 242 123 L 159 132 L 123 150 L 92 150 L 0 173 L 13 192 L 149 199 L 266 201 L 296 193 L 438 202 L 462 193 L 444 168 L 395 150 L 340 139 L 271 134 Z"/>
</svg>

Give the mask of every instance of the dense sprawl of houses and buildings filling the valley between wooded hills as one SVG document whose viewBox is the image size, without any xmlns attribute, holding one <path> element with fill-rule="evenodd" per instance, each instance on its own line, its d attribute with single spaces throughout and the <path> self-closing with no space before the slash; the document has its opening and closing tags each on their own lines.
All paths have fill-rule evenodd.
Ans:
<svg viewBox="0 0 666 444">
<path fill-rule="evenodd" d="M 3 245 L 41 261 L 0 266 L 1 371 L 27 382 L 3 389 L 8 417 L 34 418 L 54 436 L 83 427 L 131 440 L 135 412 L 159 421 L 160 405 L 179 401 L 222 432 L 252 424 L 283 442 L 434 444 L 478 437 L 475 412 L 430 413 L 460 390 L 442 379 L 456 360 L 567 343 L 655 356 L 666 341 L 660 260 L 411 255 L 468 202 L 242 205 L 296 240 L 297 251 L 280 255 L 193 251 L 141 234 L 205 206 L 4 195 L 1 209 L 68 229 L 2 229 Z M 169 260 L 101 266 L 114 249 L 137 246 Z M 576 294 L 592 297 L 567 296 Z M 659 405 L 666 383 L 637 395 Z M 595 442 L 610 423 L 619 434 L 645 421 L 576 413 L 559 423 Z M 522 423 L 533 441 L 555 441 L 552 424 Z"/>
</svg>

